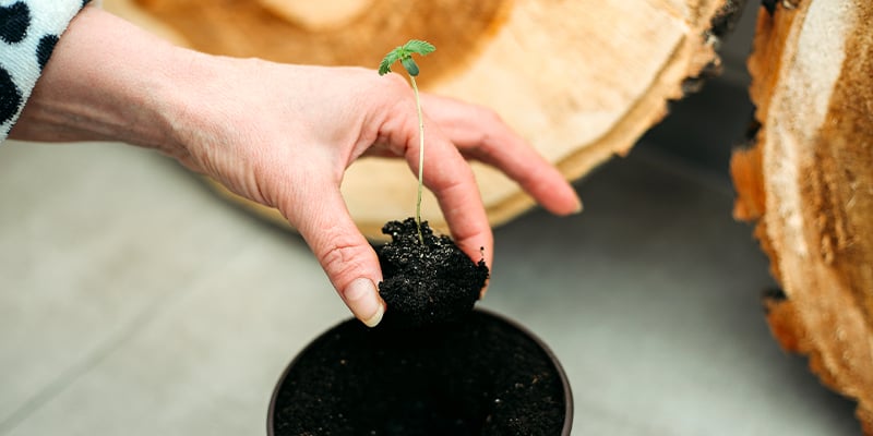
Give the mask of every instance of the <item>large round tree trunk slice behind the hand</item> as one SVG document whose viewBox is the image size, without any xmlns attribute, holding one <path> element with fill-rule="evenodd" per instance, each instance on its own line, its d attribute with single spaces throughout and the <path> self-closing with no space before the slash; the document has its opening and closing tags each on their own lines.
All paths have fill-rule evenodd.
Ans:
<svg viewBox="0 0 873 436">
<path fill-rule="evenodd" d="M 316 4 L 318 3 L 318 4 Z M 147 28 L 205 52 L 375 69 L 409 38 L 436 45 L 421 59 L 428 92 L 493 108 L 569 179 L 626 154 L 683 96 L 683 84 L 718 65 L 713 23 L 738 0 L 106 0 Z M 719 26 L 723 27 L 723 26 Z M 489 220 L 534 203 L 502 173 L 474 165 Z M 361 230 L 410 216 L 415 175 L 405 162 L 367 158 L 343 192 Z M 228 194 L 232 197 L 232 194 Z M 273 209 L 247 207 L 285 222 Z M 423 218 L 445 231 L 432 195 Z"/>
</svg>

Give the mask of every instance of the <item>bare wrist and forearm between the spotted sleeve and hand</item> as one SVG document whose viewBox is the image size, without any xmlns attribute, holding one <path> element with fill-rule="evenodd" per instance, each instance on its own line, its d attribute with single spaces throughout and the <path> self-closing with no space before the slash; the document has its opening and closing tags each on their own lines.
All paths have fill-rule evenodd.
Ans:
<svg viewBox="0 0 873 436">
<path fill-rule="evenodd" d="M 178 155 L 170 85 L 182 49 L 97 8 L 60 38 L 11 138 L 122 141 Z"/>
</svg>

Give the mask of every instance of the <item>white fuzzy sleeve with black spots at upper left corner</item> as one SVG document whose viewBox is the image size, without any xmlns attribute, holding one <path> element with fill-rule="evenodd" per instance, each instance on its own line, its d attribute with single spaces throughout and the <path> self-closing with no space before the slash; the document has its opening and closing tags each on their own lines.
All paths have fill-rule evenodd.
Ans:
<svg viewBox="0 0 873 436">
<path fill-rule="evenodd" d="M 60 35 L 91 0 L 0 0 L 0 141 L 17 121 Z"/>
</svg>

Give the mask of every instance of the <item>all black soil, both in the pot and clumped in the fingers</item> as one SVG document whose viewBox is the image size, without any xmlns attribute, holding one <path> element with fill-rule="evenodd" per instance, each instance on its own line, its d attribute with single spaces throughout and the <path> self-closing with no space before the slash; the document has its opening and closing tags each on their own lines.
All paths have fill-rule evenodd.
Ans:
<svg viewBox="0 0 873 436">
<path fill-rule="evenodd" d="M 560 435 L 561 373 L 517 327 L 474 311 L 488 280 L 449 237 L 392 221 L 378 250 L 387 310 L 376 328 L 349 319 L 289 366 L 273 436 Z"/>
</svg>

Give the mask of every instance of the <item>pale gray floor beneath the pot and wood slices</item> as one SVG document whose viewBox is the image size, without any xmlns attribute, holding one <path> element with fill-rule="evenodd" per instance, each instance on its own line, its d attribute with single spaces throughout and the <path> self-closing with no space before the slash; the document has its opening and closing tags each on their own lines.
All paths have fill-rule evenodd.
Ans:
<svg viewBox="0 0 873 436">
<path fill-rule="evenodd" d="M 858 435 L 770 338 L 722 177 L 646 144 L 586 211 L 497 230 L 481 304 L 562 360 L 576 435 Z M 276 378 L 346 318 L 306 245 L 155 154 L 0 147 L 0 435 L 263 435 Z"/>
</svg>

